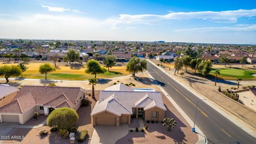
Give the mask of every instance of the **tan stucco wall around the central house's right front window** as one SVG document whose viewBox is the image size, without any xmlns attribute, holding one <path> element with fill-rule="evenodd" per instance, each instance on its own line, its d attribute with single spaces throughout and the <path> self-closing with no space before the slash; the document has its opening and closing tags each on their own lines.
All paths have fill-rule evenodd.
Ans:
<svg viewBox="0 0 256 144">
<path fill-rule="evenodd" d="M 153 118 L 152 117 L 152 113 L 153 111 L 156 111 L 157 112 L 157 118 Z M 165 111 L 162 110 L 162 109 L 159 109 L 159 108 L 151 108 L 151 109 L 148 109 L 148 110 L 145 110 L 145 116 L 144 118 L 146 120 L 151 120 L 151 121 L 163 121 L 164 119 L 164 113 Z"/>
</svg>

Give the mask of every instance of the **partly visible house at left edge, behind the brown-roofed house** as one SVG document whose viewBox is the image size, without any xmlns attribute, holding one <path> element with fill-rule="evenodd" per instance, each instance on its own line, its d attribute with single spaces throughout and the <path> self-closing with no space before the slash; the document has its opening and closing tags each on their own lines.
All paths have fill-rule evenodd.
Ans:
<svg viewBox="0 0 256 144">
<path fill-rule="evenodd" d="M 18 89 L 14 86 L 0 85 L 0 107 L 11 102 L 17 92 Z"/>
</svg>

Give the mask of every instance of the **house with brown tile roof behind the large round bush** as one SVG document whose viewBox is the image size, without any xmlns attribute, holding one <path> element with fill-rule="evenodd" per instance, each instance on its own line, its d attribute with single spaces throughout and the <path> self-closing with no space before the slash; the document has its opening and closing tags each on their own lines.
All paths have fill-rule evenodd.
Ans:
<svg viewBox="0 0 256 144">
<path fill-rule="evenodd" d="M 49 115 L 52 110 L 61 107 L 77 110 L 85 93 L 80 87 L 25 85 L 10 103 L 0 108 L 0 122 L 24 124 L 35 112 Z"/>
</svg>

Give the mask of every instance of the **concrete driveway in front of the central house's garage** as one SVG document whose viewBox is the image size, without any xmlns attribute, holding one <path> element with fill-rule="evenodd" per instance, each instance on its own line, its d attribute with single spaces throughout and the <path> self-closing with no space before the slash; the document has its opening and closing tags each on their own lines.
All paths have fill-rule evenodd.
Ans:
<svg viewBox="0 0 256 144">
<path fill-rule="evenodd" d="M 127 124 L 120 126 L 97 125 L 94 127 L 91 144 L 96 143 L 115 143 L 118 139 L 123 138 L 129 132 Z"/>
</svg>

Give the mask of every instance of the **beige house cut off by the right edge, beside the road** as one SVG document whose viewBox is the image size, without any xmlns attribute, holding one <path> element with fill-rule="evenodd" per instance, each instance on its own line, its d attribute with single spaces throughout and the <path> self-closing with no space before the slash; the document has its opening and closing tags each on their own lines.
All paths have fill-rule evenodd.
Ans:
<svg viewBox="0 0 256 144">
<path fill-rule="evenodd" d="M 241 101 L 241 103 L 256 110 L 256 88 L 238 90 L 235 91 L 235 93 L 239 94 L 239 101 Z"/>
</svg>

